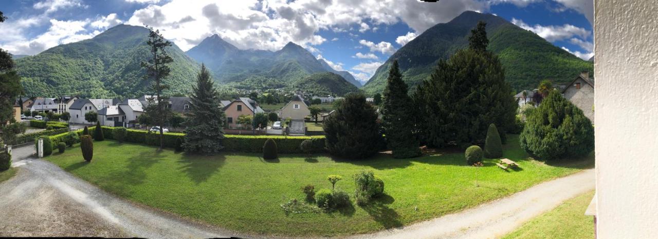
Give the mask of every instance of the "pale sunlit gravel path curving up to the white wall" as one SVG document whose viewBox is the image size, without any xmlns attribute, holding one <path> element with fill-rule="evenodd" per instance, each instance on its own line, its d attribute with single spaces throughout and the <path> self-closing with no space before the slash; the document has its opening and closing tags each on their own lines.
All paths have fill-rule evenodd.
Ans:
<svg viewBox="0 0 658 239">
<path fill-rule="evenodd" d="M 565 200 L 593 189 L 594 169 L 588 169 L 466 211 L 354 238 L 499 238 Z"/>
</svg>

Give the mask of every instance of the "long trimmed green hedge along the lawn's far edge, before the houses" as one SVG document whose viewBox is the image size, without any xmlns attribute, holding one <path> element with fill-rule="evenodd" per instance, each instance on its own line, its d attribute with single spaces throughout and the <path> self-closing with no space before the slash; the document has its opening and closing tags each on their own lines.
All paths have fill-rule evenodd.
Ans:
<svg viewBox="0 0 658 239">
<path fill-rule="evenodd" d="M 113 130 L 115 127 L 101 126 L 105 139 L 114 139 Z M 93 131 L 95 127 L 89 127 L 89 131 Z M 76 131 L 78 135 L 82 131 Z M 54 145 L 63 142 L 64 134 L 51 136 Z M 141 131 L 135 129 L 128 129 L 126 132 L 126 142 L 134 142 L 138 144 L 147 144 L 152 146 L 160 146 L 159 133 L 150 133 L 149 131 Z M 285 137 L 278 135 L 224 135 L 224 151 L 226 152 L 251 152 L 259 153 L 263 151 L 263 145 L 267 139 L 272 139 L 276 142 L 278 153 L 280 154 L 301 154 L 303 153 L 299 148 L 302 141 L 310 139 L 312 142 L 311 152 L 324 152 L 324 136 L 302 136 L 302 137 Z M 166 148 L 176 148 L 176 139 L 184 141 L 184 133 L 164 133 L 164 146 Z"/>
</svg>

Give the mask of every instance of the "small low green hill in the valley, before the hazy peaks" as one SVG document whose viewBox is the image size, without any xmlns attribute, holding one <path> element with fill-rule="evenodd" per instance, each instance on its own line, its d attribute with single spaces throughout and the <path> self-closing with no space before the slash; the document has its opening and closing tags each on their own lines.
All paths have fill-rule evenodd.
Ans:
<svg viewBox="0 0 658 239">
<path fill-rule="evenodd" d="M 359 91 L 355 85 L 332 72 L 321 72 L 304 77 L 293 84 L 293 89 L 307 91 L 314 95 L 345 95 Z"/>
</svg>

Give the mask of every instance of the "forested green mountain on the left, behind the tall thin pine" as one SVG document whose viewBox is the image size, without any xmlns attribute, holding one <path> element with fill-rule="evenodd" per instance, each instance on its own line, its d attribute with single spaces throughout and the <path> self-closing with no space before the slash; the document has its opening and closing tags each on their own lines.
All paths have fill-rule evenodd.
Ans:
<svg viewBox="0 0 658 239">
<path fill-rule="evenodd" d="M 16 70 L 28 96 L 80 95 L 92 98 L 152 95 L 142 79 L 140 63 L 147 59 L 149 30 L 118 25 L 91 39 L 59 45 L 16 60 Z M 199 64 L 176 45 L 167 53 L 174 59 L 164 82 L 169 93 L 187 93 Z"/>
</svg>

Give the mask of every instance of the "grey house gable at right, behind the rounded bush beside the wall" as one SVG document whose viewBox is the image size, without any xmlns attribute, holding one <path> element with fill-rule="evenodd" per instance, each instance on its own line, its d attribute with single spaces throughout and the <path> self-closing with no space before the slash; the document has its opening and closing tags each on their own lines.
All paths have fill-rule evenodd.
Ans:
<svg viewBox="0 0 658 239">
<path fill-rule="evenodd" d="M 580 75 L 562 90 L 562 95 L 594 123 L 594 80 L 590 78 L 590 72 L 580 72 Z"/>
</svg>

